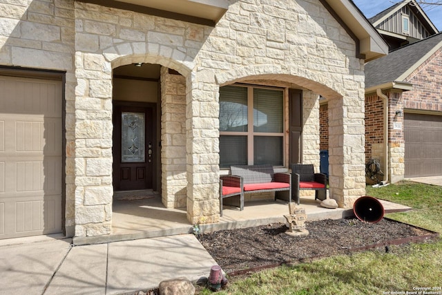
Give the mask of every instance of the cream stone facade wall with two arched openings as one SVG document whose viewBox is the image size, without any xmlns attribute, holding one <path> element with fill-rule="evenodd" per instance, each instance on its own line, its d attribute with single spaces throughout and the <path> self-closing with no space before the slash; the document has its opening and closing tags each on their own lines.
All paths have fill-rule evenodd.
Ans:
<svg viewBox="0 0 442 295">
<path fill-rule="evenodd" d="M 311 91 L 305 161 L 319 159 L 318 95 L 329 99 L 330 196 L 352 207 L 365 194 L 363 61 L 320 1 L 232 0 L 215 28 L 75 1 L 2 7 L 1 64 L 66 70 L 66 227 L 75 226 L 75 236 L 111 232 L 112 69 L 135 62 L 173 68 L 185 79 L 180 165 L 189 222 L 220 217 L 218 93 L 234 82 L 278 80 Z M 184 181 L 166 183 L 166 191 L 177 183 Z M 181 204 L 174 198 L 173 206 Z"/>
</svg>

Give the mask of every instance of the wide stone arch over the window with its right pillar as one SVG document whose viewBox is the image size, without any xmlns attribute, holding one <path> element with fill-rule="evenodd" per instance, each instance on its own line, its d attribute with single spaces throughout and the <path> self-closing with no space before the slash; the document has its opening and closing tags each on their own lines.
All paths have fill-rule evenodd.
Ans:
<svg viewBox="0 0 442 295">
<path fill-rule="evenodd" d="M 327 97 L 330 196 L 340 207 L 352 207 L 354 200 L 365 194 L 364 99 L 363 93 L 356 91 L 358 82 L 347 81 L 344 87 L 336 83 L 334 77 L 309 70 L 305 70 L 304 77 L 281 74 L 283 70 L 281 66 L 246 66 L 215 75 L 215 79 L 222 85 L 251 79 L 281 80 Z M 347 91 L 347 88 L 355 91 Z"/>
</svg>

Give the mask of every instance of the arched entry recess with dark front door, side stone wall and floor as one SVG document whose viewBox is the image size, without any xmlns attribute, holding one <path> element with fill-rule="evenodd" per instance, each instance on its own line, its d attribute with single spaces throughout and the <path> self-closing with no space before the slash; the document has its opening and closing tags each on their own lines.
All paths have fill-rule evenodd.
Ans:
<svg viewBox="0 0 442 295">
<path fill-rule="evenodd" d="M 160 64 L 113 70 L 113 236 L 189 229 L 185 90 Z"/>
</svg>

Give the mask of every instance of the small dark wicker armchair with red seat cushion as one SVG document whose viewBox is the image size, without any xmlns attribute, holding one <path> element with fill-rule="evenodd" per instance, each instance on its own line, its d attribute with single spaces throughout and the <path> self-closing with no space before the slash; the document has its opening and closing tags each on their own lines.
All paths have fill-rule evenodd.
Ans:
<svg viewBox="0 0 442 295">
<path fill-rule="evenodd" d="M 314 173 L 312 164 L 291 164 L 291 185 L 293 188 L 292 200 L 300 204 L 299 191 L 302 189 L 314 189 L 315 200 L 327 198 L 327 176 L 323 173 Z"/>
</svg>

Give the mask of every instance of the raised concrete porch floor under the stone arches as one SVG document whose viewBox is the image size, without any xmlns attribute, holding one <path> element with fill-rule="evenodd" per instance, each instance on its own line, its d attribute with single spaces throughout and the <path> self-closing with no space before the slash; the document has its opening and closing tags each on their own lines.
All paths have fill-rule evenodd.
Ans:
<svg viewBox="0 0 442 295">
<path fill-rule="evenodd" d="M 407 211 L 410 207 L 381 200 L 385 213 Z M 300 205 L 307 213 L 307 220 L 339 219 L 353 215 L 352 209 L 327 209 L 314 200 L 314 196 L 301 197 Z M 267 225 L 273 222 L 285 223 L 284 215 L 289 213 L 287 202 L 253 201 L 245 202 L 244 210 L 225 206 L 220 222 L 200 225 L 200 231 L 210 232 L 223 229 L 238 229 Z M 189 234 L 192 225 L 186 218 L 186 208 L 166 209 L 160 195 L 149 196 L 140 200 L 114 200 L 112 232 L 109 236 L 73 238 L 74 245 L 99 244 L 140 238 L 156 238 Z"/>
</svg>

